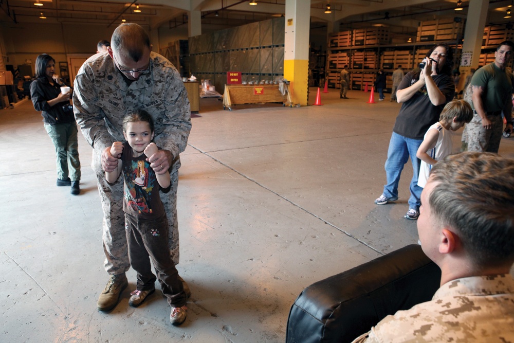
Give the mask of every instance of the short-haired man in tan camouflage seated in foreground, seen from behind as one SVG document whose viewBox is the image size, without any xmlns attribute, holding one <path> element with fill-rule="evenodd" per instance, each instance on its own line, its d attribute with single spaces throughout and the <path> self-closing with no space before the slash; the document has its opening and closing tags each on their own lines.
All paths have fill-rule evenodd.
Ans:
<svg viewBox="0 0 514 343">
<path fill-rule="evenodd" d="M 441 286 L 432 300 L 383 318 L 354 342 L 514 342 L 512 175 L 514 159 L 493 153 L 437 161 L 417 231 L 441 269 Z"/>
</svg>

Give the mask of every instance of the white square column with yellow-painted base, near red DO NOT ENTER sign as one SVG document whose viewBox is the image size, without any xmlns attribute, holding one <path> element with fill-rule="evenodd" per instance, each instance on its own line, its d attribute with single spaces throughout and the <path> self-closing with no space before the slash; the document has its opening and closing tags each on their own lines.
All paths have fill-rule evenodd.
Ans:
<svg viewBox="0 0 514 343">
<path fill-rule="evenodd" d="M 307 105 L 310 1 L 286 0 L 284 78 L 293 104 Z"/>
</svg>

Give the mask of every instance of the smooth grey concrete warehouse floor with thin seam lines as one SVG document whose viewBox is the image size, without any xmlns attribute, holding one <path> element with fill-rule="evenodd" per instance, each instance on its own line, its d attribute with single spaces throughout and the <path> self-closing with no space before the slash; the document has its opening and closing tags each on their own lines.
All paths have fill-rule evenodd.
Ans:
<svg viewBox="0 0 514 343">
<path fill-rule="evenodd" d="M 31 102 L 0 111 L 0 341 L 283 342 L 304 287 L 418 240 L 416 222 L 403 219 L 409 164 L 399 201 L 373 203 L 400 105 L 348 96 L 330 89 L 323 106 L 232 112 L 201 100 L 181 155 L 178 269 L 192 296 L 180 327 L 160 291 L 128 306 L 132 269 L 118 306 L 96 310 L 108 276 L 91 149 L 79 134 L 82 191 L 70 195 L 55 186 L 52 143 Z M 514 157 L 514 138 L 500 154 Z"/>
</svg>

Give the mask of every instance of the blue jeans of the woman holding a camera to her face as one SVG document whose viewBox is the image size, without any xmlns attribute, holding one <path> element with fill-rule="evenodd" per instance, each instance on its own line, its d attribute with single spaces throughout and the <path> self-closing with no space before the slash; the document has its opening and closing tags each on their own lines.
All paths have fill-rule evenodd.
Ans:
<svg viewBox="0 0 514 343">
<path fill-rule="evenodd" d="M 415 210 L 419 210 L 419 206 L 421 205 L 419 198 L 423 190 L 423 188 L 417 185 L 421 160 L 416 157 L 416 152 L 421 142 L 423 142 L 423 139 L 407 138 L 393 132 L 391 140 L 389 141 L 386 165 L 384 166 L 386 168 L 387 185 L 384 185 L 383 194 L 386 195 L 386 197 L 398 196 L 398 182 L 400 180 L 401 171 L 410 156 L 413 175 L 410 186 L 411 196 L 409 197 L 409 208 Z"/>
</svg>

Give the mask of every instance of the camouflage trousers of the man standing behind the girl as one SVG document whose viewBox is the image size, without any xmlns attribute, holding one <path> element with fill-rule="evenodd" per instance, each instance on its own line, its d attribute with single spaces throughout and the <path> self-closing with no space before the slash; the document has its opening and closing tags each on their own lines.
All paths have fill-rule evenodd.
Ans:
<svg viewBox="0 0 514 343">
<path fill-rule="evenodd" d="M 123 176 L 120 175 L 114 185 L 105 180 L 100 156 L 93 152 L 92 165 L 97 176 L 98 191 L 103 210 L 103 250 L 104 268 L 108 274 L 125 273 L 130 268 L 128 247 L 125 233 L 125 213 L 123 212 Z M 171 175 L 171 187 L 168 193 L 160 192 L 164 211 L 168 217 L 170 255 L 175 264 L 179 262 L 179 240 L 177 221 L 177 187 L 178 171 Z"/>
</svg>

